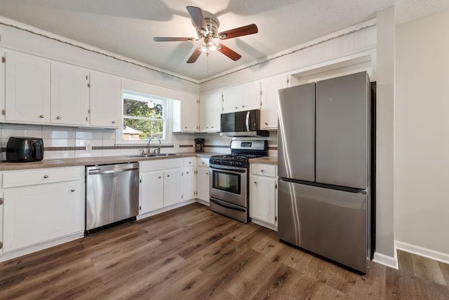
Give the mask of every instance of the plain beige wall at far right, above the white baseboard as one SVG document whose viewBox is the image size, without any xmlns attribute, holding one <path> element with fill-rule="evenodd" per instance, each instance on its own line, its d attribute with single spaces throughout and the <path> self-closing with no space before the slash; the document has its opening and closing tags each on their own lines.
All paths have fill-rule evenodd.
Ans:
<svg viewBox="0 0 449 300">
<path fill-rule="evenodd" d="M 449 11 L 396 27 L 394 133 L 396 240 L 449 254 Z"/>
</svg>

